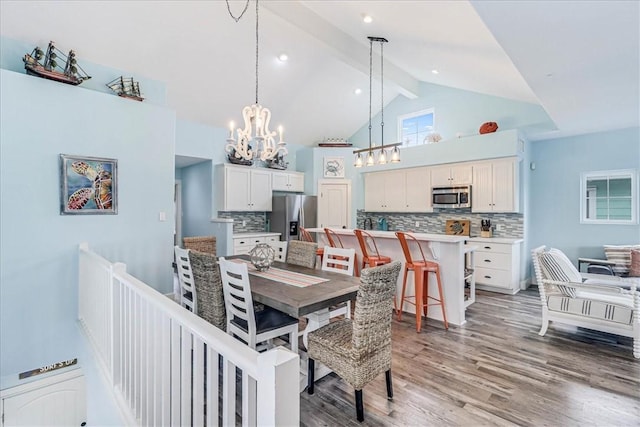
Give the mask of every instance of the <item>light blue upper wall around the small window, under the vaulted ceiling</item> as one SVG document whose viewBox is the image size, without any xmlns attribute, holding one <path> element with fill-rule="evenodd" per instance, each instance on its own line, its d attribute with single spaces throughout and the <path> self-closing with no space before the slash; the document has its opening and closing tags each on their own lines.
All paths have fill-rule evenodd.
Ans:
<svg viewBox="0 0 640 427">
<path fill-rule="evenodd" d="M 399 142 L 397 118 L 409 113 L 433 108 L 435 131 L 444 140 L 478 135 L 484 122 L 497 122 L 498 130 L 519 129 L 526 134 L 529 129 L 552 130 L 555 125 L 543 110 L 535 104 L 513 101 L 497 96 L 484 95 L 447 86 L 421 83 L 415 99 L 397 96 L 385 107 L 385 143 Z M 354 145 L 369 144 L 368 123 L 349 138 Z M 380 142 L 380 114 L 372 118 L 372 140 Z"/>
</svg>

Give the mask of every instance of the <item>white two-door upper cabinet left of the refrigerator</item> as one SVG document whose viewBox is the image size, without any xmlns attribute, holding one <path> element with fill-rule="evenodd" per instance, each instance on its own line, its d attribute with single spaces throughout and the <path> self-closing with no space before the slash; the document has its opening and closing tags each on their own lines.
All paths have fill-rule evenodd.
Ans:
<svg viewBox="0 0 640 427">
<path fill-rule="evenodd" d="M 271 211 L 271 171 L 223 164 L 217 178 L 219 210 Z"/>
</svg>

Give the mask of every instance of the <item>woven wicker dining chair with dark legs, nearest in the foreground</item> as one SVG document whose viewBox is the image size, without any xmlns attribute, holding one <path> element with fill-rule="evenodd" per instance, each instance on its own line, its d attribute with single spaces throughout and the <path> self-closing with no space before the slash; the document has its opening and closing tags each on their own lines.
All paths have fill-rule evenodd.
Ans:
<svg viewBox="0 0 640 427">
<path fill-rule="evenodd" d="M 364 420 L 362 388 L 384 372 L 391 383 L 391 315 L 400 262 L 362 270 L 355 319 L 329 323 L 309 333 L 308 389 L 314 392 L 315 361 L 324 363 L 355 388 L 356 415 Z"/>
</svg>

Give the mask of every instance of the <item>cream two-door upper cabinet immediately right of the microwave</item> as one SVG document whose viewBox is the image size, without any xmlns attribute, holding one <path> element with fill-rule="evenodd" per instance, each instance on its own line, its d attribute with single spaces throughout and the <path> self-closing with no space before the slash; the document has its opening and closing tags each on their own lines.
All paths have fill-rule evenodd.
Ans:
<svg viewBox="0 0 640 427">
<path fill-rule="evenodd" d="M 473 167 L 472 212 L 518 212 L 518 159 L 479 162 Z"/>
</svg>

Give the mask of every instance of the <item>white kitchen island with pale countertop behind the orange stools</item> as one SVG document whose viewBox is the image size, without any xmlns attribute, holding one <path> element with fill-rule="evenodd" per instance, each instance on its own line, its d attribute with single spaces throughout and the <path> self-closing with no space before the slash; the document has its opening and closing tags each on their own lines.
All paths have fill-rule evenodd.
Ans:
<svg viewBox="0 0 640 427">
<path fill-rule="evenodd" d="M 327 246 L 326 236 L 322 228 L 310 228 L 311 233 L 316 233 L 319 246 Z M 358 239 L 352 229 L 334 229 L 340 236 L 344 247 L 354 248 L 358 254 L 358 262 L 362 266 L 362 252 Z M 402 292 L 402 277 L 404 272 L 404 255 L 400 242 L 393 231 L 367 230 L 376 239 L 376 245 L 381 255 L 391 257 L 403 263 L 402 271 L 398 277 L 396 285 L 396 300 L 400 302 Z M 467 236 L 448 236 L 443 234 L 411 233 L 420 241 L 422 250 L 428 259 L 437 261 L 440 264 L 440 275 L 444 292 L 447 320 L 453 325 L 463 325 L 465 320 L 465 309 L 473 302 L 473 289 L 470 295 L 465 298 L 465 255 L 474 250 L 473 247 L 465 246 Z M 417 252 L 417 250 L 416 250 Z M 418 258 L 420 254 L 417 253 Z M 469 266 L 473 268 L 473 266 Z M 472 287 L 473 288 L 473 287 Z M 413 273 L 409 272 L 407 278 L 407 289 L 405 295 L 414 295 Z M 430 277 L 429 295 L 438 295 L 438 288 L 435 279 Z M 404 304 L 404 310 L 415 314 L 415 306 Z M 442 321 L 442 313 L 439 308 L 432 306 L 428 312 L 429 318 Z"/>
</svg>

